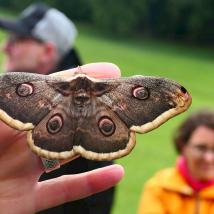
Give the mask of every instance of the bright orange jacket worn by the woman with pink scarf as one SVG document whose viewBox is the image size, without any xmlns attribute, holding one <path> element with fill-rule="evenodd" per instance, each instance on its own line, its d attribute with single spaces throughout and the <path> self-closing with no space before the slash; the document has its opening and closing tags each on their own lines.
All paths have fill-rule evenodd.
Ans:
<svg viewBox="0 0 214 214">
<path fill-rule="evenodd" d="M 214 214 L 214 185 L 196 193 L 177 169 L 164 169 L 146 183 L 138 214 Z"/>
</svg>

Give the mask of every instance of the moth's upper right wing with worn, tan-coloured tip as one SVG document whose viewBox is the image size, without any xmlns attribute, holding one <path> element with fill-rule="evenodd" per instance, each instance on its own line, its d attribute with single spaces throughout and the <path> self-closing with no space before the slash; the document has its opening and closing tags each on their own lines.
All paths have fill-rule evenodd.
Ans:
<svg viewBox="0 0 214 214">
<path fill-rule="evenodd" d="M 110 90 L 99 99 L 135 132 L 155 129 L 191 104 L 185 88 L 166 78 L 133 76 L 106 84 Z"/>
</svg>

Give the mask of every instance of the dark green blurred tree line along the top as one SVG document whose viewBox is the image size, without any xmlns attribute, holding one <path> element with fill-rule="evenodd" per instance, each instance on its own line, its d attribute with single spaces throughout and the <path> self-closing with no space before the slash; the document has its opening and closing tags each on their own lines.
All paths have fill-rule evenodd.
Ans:
<svg viewBox="0 0 214 214">
<path fill-rule="evenodd" d="M 33 0 L 0 0 L 20 11 Z M 146 34 L 214 43 L 214 0 L 44 0 L 72 20 L 89 22 L 114 35 Z"/>
</svg>

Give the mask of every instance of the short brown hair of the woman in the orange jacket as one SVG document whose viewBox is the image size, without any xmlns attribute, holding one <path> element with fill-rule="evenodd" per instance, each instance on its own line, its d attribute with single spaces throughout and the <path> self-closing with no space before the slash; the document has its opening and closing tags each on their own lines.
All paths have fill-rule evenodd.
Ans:
<svg viewBox="0 0 214 214">
<path fill-rule="evenodd" d="M 201 110 L 195 112 L 180 125 L 174 136 L 174 144 L 178 153 L 181 153 L 182 148 L 199 126 L 214 129 L 214 111 Z"/>
</svg>

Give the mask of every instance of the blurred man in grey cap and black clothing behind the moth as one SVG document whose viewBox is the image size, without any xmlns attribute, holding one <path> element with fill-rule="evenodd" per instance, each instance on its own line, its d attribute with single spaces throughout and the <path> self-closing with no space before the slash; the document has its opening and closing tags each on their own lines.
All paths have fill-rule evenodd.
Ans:
<svg viewBox="0 0 214 214">
<path fill-rule="evenodd" d="M 4 47 L 7 56 L 6 72 L 48 75 L 82 64 L 74 48 L 77 29 L 62 12 L 55 8 L 41 3 L 30 5 L 15 21 L 0 18 L 0 28 L 9 33 Z M 110 164 L 112 164 L 110 161 L 98 162 L 78 158 L 61 166 L 60 169 L 43 174 L 40 180 L 86 172 Z M 114 188 L 111 188 L 86 199 L 41 213 L 109 214 L 113 197 Z"/>
</svg>

